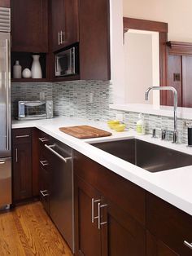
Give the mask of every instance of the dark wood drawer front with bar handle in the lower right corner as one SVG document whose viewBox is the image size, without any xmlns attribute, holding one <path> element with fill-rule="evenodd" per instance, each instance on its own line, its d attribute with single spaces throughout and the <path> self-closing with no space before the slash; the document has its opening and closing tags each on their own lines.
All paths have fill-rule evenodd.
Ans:
<svg viewBox="0 0 192 256">
<path fill-rule="evenodd" d="M 184 245 L 184 241 L 192 242 L 192 217 L 150 193 L 146 195 L 146 227 L 177 254 L 192 254 Z"/>
</svg>

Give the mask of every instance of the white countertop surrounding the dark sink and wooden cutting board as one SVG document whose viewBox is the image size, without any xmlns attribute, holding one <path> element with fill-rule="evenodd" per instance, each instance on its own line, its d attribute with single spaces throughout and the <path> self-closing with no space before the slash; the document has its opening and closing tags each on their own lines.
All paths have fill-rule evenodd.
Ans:
<svg viewBox="0 0 192 256">
<path fill-rule="evenodd" d="M 112 132 L 112 135 L 105 138 L 82 140 L 66 135 L 59 130 L 59 127 L 63 126 L 80 125 L 89 125 L 108 130 Z M 89 143 L 137 138 L 192 155 L 192 148 L 186 147 L 185 144 L 173 144 L 171 142 L 161 141 L 160 139 L 151 139 L 151 135 L 137 135 L 134 131 L 118 133 L 109 129 L 106 123 L 81 118 L 55 117 L 53 119 L 37 121 L 12 121 L 13 129 L 26 127 L 37 127 L 55 139 L 59 139 L 59 141 L 81 152 L 86 157 L 97 161 L 109 170 L 119 174 L 124 179 L 128 179 L 148 192 L 159 196 L 163 200 L 192 215 L 192 166 L 151 173 L 119 157 L 103 152 L 101 149 L 95 148 Z"/>
</svg>

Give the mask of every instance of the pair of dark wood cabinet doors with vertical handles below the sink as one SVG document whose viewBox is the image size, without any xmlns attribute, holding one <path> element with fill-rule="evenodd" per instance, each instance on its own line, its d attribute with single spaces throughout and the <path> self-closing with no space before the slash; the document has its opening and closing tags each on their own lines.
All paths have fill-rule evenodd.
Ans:
<svg viewBox="0 0 192 256">
<path fill-rule="evenodd" d="M 94 169 L 85 170 L 87 171 L 85 181 L 76 175 L 76 173 L 82 174 L 82 176 L 85 174 L 80 171 L 83 166 L 76 161 L 79 159 L 77 156 L 79 157 L 79 153 L 75 153 L 74 157 L 76 255 L 146 255 L 145 227 L 142 227 L 132 217 L 132 211 L 129 214 L 116 204 L 116 196 L 115 202 L 106 196 L 107 193 L 111 192 L 112 194 L 112 191 L 120 186 L 118 179 L 114 185 L 116 187 L 111 187 L 108 192 L 105 192 L 105 188 L 103 191 L 94 188 L 88 181 L 92 179 L 91 171 L 95 170 L 97 166 L 99 169 L 99 165 L 95 163 Z M 87 161 L 89 161 L 88 158 Z M 103 167 L 103 170 L 100 169 L 100 171 L 104 174 L 106 169 Z M 107 180 L 99 180 L 97 174 L 94 174 L 100 188 L 105 186 L 105 183 L 107 184 Z"/>
</svg>

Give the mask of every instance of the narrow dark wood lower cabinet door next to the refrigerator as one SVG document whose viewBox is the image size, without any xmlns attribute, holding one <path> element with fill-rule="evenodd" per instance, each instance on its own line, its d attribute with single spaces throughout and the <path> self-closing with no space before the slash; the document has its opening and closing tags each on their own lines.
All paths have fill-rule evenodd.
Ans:
<svg viewBox="0 0 192 256">
<path fill-rule="evenodd" d="M 14 201 L 32 197 L 31 144 L 20 143 L 13 147 Z"/>
</svg>

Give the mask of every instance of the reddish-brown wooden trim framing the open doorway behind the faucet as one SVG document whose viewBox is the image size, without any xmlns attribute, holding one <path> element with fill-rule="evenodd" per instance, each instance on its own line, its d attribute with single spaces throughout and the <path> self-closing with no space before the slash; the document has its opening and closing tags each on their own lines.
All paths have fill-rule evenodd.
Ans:
<svg viewBox="0 0 192 256">
<path fill-rule="evenodd" d="M 124 32 L 129 29 L 146 30 L 159 32 L 159 84 L 160 86 L 168 86 L 168 23 L 140 20 L 129 17 L 124 17 Z M 160 94 L 160 104 L 167 104 L 167 92 L 162 91 Z"/>
</svg>

